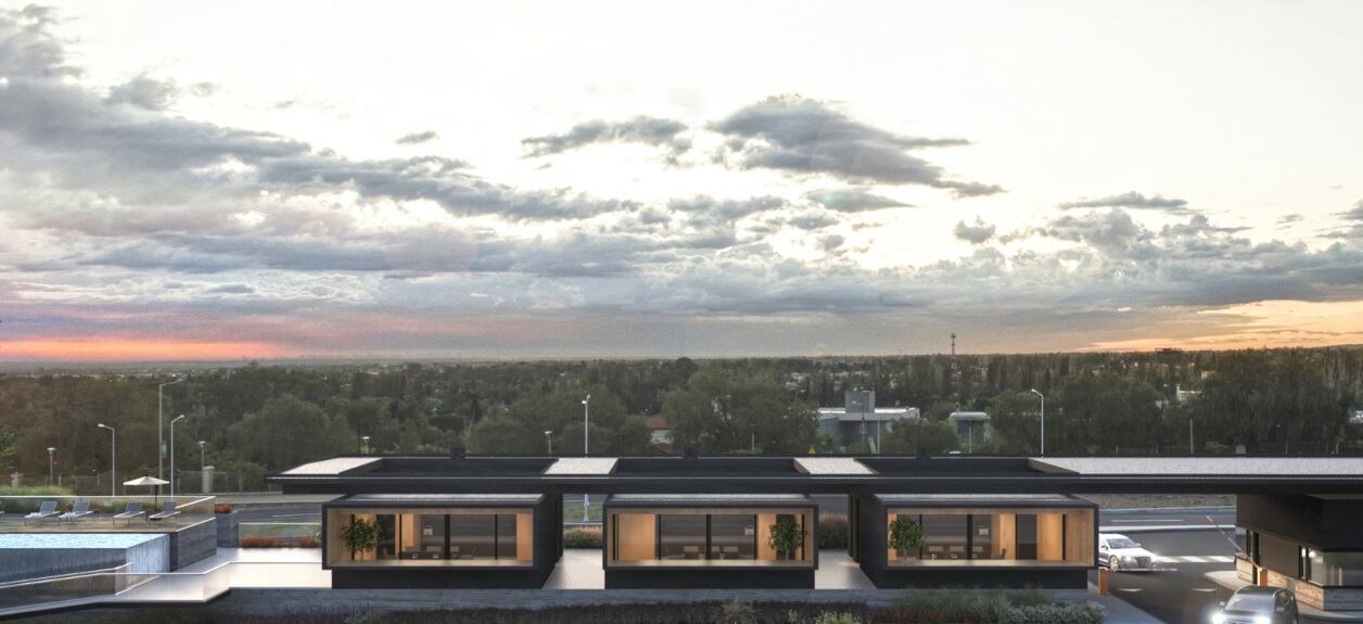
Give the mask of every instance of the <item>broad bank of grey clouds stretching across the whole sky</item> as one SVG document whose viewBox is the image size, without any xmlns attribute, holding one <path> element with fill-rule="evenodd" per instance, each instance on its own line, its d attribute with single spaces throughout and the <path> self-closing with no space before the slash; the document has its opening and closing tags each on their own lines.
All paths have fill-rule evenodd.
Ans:
<svg viewBox="0 0 1363 624">
<path fill-rule="evenodd" d="M 915 232 L 972 243 L 960 258 L 909 264 L 882 245 L 866 262 L 861 245 L 898 234 L 853 213 L 908 206 L 889 187 L 992 191 L 920 158 L 965 140 L 902 136 L 825 102 L 773 98 L 710 131 L 589 123 L 527 139 L 529 151 L 672 150 L 718 132 L 733 169 L 816 188 L 617 200 L 500 184 L 451 157 L 346 158 L 179 119 L 155 89 L 113 104 L 74 78 L 53 19 L 0 11 L 7 334 L 252 335 L 289 353 L 416 357 L 880 353 L 966 328 L 1010 335 L 1000 349 L 1062 349 L 1214 307 L 1363 300 L 1363 237 L 1254 240 L 1202 214 L 1148 228 L 1137 210 L 1187 208 L 1139 193 L 1002 237 L 980 218 Z M 1363 223 L 1363 206 L 1340 217 Z M 1024 237 L 1050 240 L 987 244 Z"/>
</svg>

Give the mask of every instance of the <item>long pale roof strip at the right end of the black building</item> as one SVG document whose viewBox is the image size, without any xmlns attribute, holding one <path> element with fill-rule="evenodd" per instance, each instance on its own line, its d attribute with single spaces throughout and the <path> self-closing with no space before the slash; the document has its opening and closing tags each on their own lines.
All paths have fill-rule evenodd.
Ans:
<svg viewBox="0 0 1363 624">
<path fill-rule="evenodd" d="M 1037 470 L 1079 475 L 1363 477 L 1363 458 L 1033 458 Z"/>
</svg>

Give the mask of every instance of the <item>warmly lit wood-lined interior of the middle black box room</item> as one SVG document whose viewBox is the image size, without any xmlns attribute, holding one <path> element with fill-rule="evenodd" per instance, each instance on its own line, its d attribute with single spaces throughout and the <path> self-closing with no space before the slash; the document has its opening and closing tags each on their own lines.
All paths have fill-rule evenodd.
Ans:
<svg viewBox="0 0 1363 624">
<path fill-rule="evenodd" d="M 814 567 L 812 510 L 627 510 L 608 514 L 608 567 Z M 803 538 L 778 552 L 771 534 L 795 522 Z"/>
</svg>

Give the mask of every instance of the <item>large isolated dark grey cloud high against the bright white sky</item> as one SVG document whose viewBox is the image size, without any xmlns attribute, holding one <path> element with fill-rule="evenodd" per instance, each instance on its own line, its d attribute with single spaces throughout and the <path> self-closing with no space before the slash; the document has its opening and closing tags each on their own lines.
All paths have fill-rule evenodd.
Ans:
<svg viewBox="0 0 1363 624">
<path fill-rule="evenodd" d="M 898 135 L 800 95 L 763 99 L 710 124 L 710 129 L 728 139 L 720 158 L 739 169 L 826 174 L 855 184 L 920 184 L 957 198 L 1003 192 L 992 184 L 950 180 L 942 168 L 912 154 L 969 144 L 965 139 Z"/>
</svg>

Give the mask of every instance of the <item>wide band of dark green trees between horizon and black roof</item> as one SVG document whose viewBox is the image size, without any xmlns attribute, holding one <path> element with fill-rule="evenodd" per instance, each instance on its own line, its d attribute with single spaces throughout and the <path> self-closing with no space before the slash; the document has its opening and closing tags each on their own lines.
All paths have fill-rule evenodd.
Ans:
<svg viewBox="0 0 1363 624">
<path fill-rule="evenodd" d="M 157 384 L 166 375 L 0 376 L 0 469 L 45 474 L 108 466 L 119 431 L 123 474 L 155 471 Z M 924 421 L 885 436 L 886 452 L 965 450 L 946 425 L 957 409 L 992 417 L 973 452 L 1039 451 L 1047 396 L 1048 454 L 1358 452 L 1348 413 L 1363 396 L 1363 349 L 1219 353 L 910 356 L 536 361 L 284 366 L 194 371 L 165 388 L 181 467 L 204 461 L 259 474 L 341 452 L 579 454 L 590 409 L 593 454 L 658 452 L 647 418 L 662 416 L 680 452 L 831 450 L 816 407 L 845 390 L 880 406 L 917 406 Z M 1176 390 L 1191 391 L 1179 399 Z M 590 395 L 589 406 L 582 401 Z M 547 433 L 548 432 L 548 433 Z M 856 450 L 853 450 L 856 451 Z"/>
</svg>

